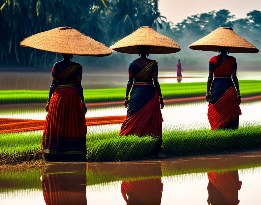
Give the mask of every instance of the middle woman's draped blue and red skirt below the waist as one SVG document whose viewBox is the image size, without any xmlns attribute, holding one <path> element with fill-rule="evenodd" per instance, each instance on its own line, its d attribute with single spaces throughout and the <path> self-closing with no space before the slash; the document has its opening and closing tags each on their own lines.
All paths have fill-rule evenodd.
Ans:
<svg viewBox="0 0 261 205">
<path fill-rule="evenodd" d="M 153 85 L 133 85 L 127 118 L 119 135 L 151 135 L 158 137 L 156 150 L 161 149 L 162 122 L 159 94 Z"/>
</svg>

